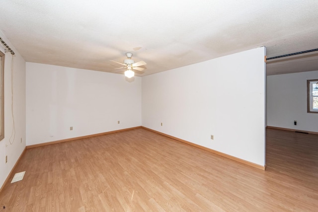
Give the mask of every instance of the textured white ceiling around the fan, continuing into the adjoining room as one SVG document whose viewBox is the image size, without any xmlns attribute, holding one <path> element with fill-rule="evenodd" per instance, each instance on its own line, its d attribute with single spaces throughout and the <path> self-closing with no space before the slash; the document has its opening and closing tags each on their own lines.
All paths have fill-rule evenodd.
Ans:
<svg viewBox="0 0 318 212">
<path fill-rule="evenodd" d="M 126 52 L 147 63 L 143 76 L 260 46 L 267 57 L 318 48 L 318 0 L 1 0 L 0 11 L 27 62 L 96 71 Z M 318 70 L 316 59 L 267 72 Z"/>
</svg>

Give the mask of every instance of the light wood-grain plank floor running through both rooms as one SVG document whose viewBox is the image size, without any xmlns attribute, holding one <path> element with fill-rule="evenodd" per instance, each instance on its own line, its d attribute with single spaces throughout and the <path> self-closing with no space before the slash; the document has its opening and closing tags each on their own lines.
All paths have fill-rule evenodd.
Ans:
<svg viewBox="0 0 318 212">
<path fill-rule="evenodd" d="M 145 129 L 27 149 L 0 212 L 317 212 L 318 135 L 266 140 L 266 171 Z"/>
</svg>

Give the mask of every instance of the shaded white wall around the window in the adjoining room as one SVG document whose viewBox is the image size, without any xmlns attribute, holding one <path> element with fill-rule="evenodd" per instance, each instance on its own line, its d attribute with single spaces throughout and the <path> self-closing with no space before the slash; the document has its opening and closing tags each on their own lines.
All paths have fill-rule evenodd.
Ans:
<svg viewBox="0 0 318 212">
<path fill-rule="evenodd" d="M 308 79 L 318 71 L 267 76 L 268 126 L 318 132 L 318 114 L 307 113 Z"/>
</svg>

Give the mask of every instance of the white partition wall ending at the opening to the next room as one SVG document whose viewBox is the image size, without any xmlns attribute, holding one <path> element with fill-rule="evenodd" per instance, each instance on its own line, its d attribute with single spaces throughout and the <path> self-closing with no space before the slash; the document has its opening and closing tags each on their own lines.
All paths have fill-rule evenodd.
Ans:
<svg viewBox="0 0 318 212">
<path fill-rule="evenodd" d="M 143 77 L 142 125 L 264 165 L 264 56 L 261 47 Z"/>
</svg>

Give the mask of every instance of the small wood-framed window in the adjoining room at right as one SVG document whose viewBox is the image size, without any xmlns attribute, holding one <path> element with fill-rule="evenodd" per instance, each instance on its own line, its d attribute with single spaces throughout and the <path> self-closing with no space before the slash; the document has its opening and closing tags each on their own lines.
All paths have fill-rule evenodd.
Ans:
<svg viewBox="0 0 318 212">
<path fill-rule="evenodd" d="M 318 79 L 307 80 L 307 112 L 318 113 Z"/>
</svg>

